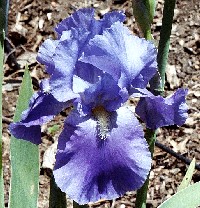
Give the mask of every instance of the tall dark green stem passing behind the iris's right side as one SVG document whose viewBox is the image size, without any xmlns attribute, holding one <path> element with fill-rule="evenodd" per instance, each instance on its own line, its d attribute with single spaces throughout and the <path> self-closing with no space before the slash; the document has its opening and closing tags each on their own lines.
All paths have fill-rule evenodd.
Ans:
<svg viewBox="0 0 200 208">
<path fill-rule="evenodd" d="M 169 53 L 169 44 L 170 44 L 170 35 L 172 29 L 172 21 L 174 16 L 174 8 L 175 8 L 176 0 L 165 0 L 164 3 L 164 11 L 163 11 L 163 19 L 162 19 L 162 29 L 160 32 L 160 42 L 158 46 L 158 71 L 161 77 L 155 76 L 150 82 L 151 89 L 156 95 L 163 95 L 164 86 L 165 86 L 165 69 L 168 59 Z M 150 40 L 150 36 L 146 35 L 146 39 Z M 145 138 L 149 144 L 149 149 L 151 152 L 151 156 L 153 158 L 154 146 L 156 141 L 156 131 L 147 129 Z M 149 175 L 146 179 L 144 185 L 137 191 L 136 197 L 136 208 L 145 208 L 146 207 L 146 199 L 147 199 L 147 191 L 149 185 Z"/>
</svg>

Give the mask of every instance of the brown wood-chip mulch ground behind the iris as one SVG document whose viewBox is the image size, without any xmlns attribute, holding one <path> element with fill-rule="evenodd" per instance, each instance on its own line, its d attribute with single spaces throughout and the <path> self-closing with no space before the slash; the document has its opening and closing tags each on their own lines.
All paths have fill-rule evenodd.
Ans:
<svg viewBox="0 0 200 208">
<path fill-rule="evenodd" d="M 124 10 L 127 16 L 125 24 L 136 35 L 141 35 L 132 14 L 130 0 L 115 1 L 64 1 L 64 0 L 12 0 L 8 19 L 8 40 L 12 50 L 5 56 L 3 82 L 3 166 L 5 178 L 5 206 L 8 205 L 10 178 L 8 125 L 12 122 L 18 90 L 23 76 L 24 66 L 28 62 L 34 89 L 38 90 L 39 80 L 46 76 L 44 66 L 36 62 L 38 47 L 49 38 L 55 37 L 54 26 L 75 10 L 84 6 L 96 8 L 101 17 L 110 10 Z M 158 0 L 153 22 L 153 36 L 158 41 L 162 24 L 163 0 Z M 181 127 L 170 126 L 159 129 L 157 140 L 175 152 L 200 163 L 200 1 L 177 0 L 172 27 L 171 45 L 166 82 L 167 94 L 179 87 L 189 89 L 187 103 L 189 118 Z M 15 60 L 16 58 L 16 60 Z M 48 207 L 50 169 L 44 164 L 46 150 L 56 141 L 58 134 L 49 131 L 53 125 L 61 126 L 63 116 L 43 127 L 43 143 L 40 145 L 41 171 L 40 196 L 38 208 Z M 55 146 L 55 145 L 54 145 Z M 45 153 L 46 152 L 46 153 Z M 44 154 L 45 153 L 45 154 Z M 44 157 L 43 157 L 44 156 Z M 53 160 L 53 159 L 52 159 Z M 50 165 L 51 166 L 51 165 Z M 187 165 L 172 155 L 155 148 L 147 207 L 157 207 L 176 193 L 187 170 Z M 193 182 L 200 181 L 200 172 L 195 171 Z M 135 192 L 114 201 L 99 201 L 91 207 L 134 207 Z"/>
</svg>

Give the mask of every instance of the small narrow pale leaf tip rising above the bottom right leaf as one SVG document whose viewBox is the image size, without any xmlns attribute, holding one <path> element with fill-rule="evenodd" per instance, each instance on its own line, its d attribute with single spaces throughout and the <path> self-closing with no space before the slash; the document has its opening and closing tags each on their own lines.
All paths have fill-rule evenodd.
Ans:
<svg viewBox="0 0 200 208">
<path fill-rule="evenodd" d="M 190 185 L 194 170 L 195 170 L 195 158 L 193 158 L 192 162 L 190 163 L 190 166 L 188 167 L 185 177 L 183 178 L 181 184 L 179 185 L 177 192 L 187 188 Z"/>
</svg>

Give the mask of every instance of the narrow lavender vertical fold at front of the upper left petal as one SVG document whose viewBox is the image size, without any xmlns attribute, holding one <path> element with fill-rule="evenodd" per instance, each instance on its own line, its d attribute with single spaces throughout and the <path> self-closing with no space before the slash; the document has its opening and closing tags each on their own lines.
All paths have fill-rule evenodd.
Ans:
<svg viewBox="0 0 200 208">
<path fill-rule="evenodd" d="M 78 42 L 73 35 L 70 40 L 60 41 L 55 49 L 53 55 L 55 72 L 50 78 L 50 86 L 52 95 L 60 102 L 77 97 L 72 91 L 72 81 L 78 50 Z"/>
</svg>

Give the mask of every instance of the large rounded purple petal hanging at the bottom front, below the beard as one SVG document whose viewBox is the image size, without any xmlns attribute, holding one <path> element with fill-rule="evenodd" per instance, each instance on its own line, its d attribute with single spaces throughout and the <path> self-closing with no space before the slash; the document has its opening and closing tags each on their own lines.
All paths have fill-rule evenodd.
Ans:
<svg viewBox="0 0 200 208">
<path fill-rule="evenodd" d="M 79 204 L 136 190 L 149 173 L 151 154 L 133 113 L 121 107 L 109 122 L 110 132 L 101 139 L 98 122 L 74 112 L 59 138 L 55 181 Z"/>
</svg>

